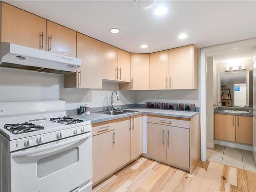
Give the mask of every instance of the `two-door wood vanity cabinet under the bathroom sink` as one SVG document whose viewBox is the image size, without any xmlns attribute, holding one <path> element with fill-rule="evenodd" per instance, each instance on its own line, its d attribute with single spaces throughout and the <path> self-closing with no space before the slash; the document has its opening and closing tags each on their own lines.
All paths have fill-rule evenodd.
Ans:
<svg viewBox="0 0 256 192">
<path fill-rule="evenodd" d="M 223 114 L 215 114 L 214 117 L 215 139 L 252 145 L 252 117 Z"/>
</svg>

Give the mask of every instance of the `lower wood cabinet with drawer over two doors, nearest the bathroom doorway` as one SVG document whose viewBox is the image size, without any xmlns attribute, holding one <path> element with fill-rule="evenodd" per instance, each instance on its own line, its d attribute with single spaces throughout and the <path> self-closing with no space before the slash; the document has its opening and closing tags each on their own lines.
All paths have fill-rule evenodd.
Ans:
<svg viewBox="0 0 256 192">
<path fill-rule="evenodd" d="M 143 156 L 192 173 L 200 162 L 199 115 L 192 119 L 148 115 Z"/>
</svg>

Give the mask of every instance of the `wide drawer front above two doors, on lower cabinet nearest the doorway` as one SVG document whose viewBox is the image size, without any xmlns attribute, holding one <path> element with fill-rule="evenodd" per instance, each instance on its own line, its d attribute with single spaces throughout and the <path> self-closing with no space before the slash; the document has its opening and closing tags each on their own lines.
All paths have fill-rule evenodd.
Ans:
<svg viewBox="0 0 256 192">
<path fill-rule="evenodd" d="M 190 128 L 190 121 L 188 120 L 179 120 L 179 119 L 171 119 L 165 117 L 154 117 L 154 116 L 147 116 L 148 123 L 157 123 L 157 124 L 164 124 L 164 125 L 171 125 L 171 126 L 178 126 L 184 128 Z"/>
</svg>

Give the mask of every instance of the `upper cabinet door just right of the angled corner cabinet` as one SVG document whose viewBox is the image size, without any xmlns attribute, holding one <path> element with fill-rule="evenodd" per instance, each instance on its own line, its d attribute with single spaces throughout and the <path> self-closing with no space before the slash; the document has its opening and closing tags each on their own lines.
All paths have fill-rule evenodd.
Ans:
<svg viewBox="0 0 256 192">
<path fill-rule="evenodd" d="M 150 54 L 150 89 L 166 90 L 169 82 L 168 50 Z"/>
</svg>

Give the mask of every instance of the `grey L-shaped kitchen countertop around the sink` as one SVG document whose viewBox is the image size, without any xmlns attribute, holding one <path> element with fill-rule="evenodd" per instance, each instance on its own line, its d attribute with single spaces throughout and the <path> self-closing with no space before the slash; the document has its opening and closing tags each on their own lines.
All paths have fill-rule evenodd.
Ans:
<svg viewBox="0 0 256 192">
<path fill-rule="evenodd" d="M 146 108 L 129 108 L 127 110 L 133 110 L 133 111 L 138 111 L 138 112 L 124 113 L 124 114 L 120 114 L 120 115 L 106 115 L 106 114 L 100 114 L 100 113 L 91 113 L 88 115 L 71 115 L 69 117 L 89 120 L 92 123 L 99 123 L 99 122 L 110 121 L 113 119 L 130 117 L 130 116 L 140 115 L 140 114 L 163 115 L 163 116 L 168 116 L 168 117 L 181 117 L 181 118 L 189 118 L 189 119 L 191 119 L 192 117 L 199 114 L 199 112 L 158 110 L 158 109 L 146 109 Z"/>
</svg>

